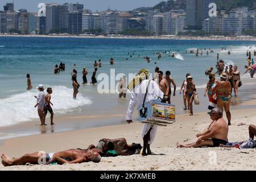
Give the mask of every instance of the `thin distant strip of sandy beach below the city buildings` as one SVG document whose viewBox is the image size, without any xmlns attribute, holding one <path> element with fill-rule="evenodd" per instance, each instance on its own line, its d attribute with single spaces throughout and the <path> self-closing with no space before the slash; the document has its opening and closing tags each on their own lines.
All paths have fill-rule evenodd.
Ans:
<svg viewBox="0 0 256 182">
<path fill-rule="evenodd" d="M 217 40 L 217 41 L 256 41 L 254 37 L 203 37 L 203 36 L 104 36 L 104 35 L 0 35 L 0 37 L 39 37 L 39 38 L 84 38 L 84 39 L 159 39 L 159 40 Z"/>
</svg>

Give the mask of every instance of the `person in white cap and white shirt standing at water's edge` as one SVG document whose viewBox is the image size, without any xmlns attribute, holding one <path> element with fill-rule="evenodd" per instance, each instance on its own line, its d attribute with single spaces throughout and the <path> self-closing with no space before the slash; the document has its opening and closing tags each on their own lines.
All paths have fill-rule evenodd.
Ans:
<svg viewBox="0 0 256 182">
<path fill-rule="evenodd" d="M 35 107 L 38 107 L 38 115 L 40 118 L 41 126 L 46 125 L 45 118 L 44 118 L 44 104 L 46 103 L 46 95 L 44 94 L 44 86 L 42 84 L 38 85 L 36 87 L 39 90 L 38 96 L 35 96 L 36 98 L 36 105 Z"/>
</svg>

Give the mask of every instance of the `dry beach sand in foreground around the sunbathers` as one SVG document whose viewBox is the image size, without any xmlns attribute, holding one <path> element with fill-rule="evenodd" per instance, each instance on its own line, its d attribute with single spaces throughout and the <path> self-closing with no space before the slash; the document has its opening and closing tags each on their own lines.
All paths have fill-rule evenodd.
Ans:
<svg viewBox="0 0 256 182">
<path fill-rule="evenodd" d="M 224 117 L 226 118 L 226 117 Z M 237 126 L 238 123 L 246 125 Z M 229 141 L 249 138 L 248 127 L 255 125 L 256 109 L 232 110 L 232 126 Z M 100 163 L 35 165 L 3 167 L 0 170 L 255 170 L 255 149 L 237 148 L 176 148 L 176 142 L 191 142 L 195 135 L 210 124 L 209 115 L 196 113 L 194 116 L 180 114 L 176 122 L 167 127 L 158 127 L 152 144 L 156 155 L 131 155 L 102 158 Z M 29 152 L 56 152 L 69 148 L 87 148 L 97 144 L 101 138 L 125 137 L 128 143 L 141 143 L 141 123 L 115 125 L 76 130 L 64 133 L 41 134 L 30 137 L 7 139 L 0 146 L 0 153 L 17 157 Z M 213 159 L 216 159 L 213 160 Z"/>
</svg>

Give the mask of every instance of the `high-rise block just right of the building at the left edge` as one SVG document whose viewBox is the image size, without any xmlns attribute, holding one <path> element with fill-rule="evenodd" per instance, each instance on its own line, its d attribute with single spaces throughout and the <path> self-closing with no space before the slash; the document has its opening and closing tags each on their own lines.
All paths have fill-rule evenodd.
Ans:
<svg viewBox="0 0 256 182">
<path fill-rule="evenodd" d="M 7 13 L 6 13 L 6 31 L 8 33 L 18 31 L 18 12 L 7 11 Z"/>
</svg>

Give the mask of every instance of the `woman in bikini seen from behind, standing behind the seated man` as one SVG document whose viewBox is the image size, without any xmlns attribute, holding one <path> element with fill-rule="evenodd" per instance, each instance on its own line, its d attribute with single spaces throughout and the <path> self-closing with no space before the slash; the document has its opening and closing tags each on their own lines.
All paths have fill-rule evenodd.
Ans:
<svg viewBox="0 0 256 182">
<path fill-rule="evenodd" d="M 226 73 L 222 73 L 220 76 L 220 81 L 217 82 L 216 86 L 213 88 L 212 93 L 217 92 L 217 106 L 226 112 L 226 118 L 228 118 L 228 125 L 231 125 L 231 113 L 230 107 L 230 92 L 231 92 L 230 82 L 227 81 Z"/>
</svg>

